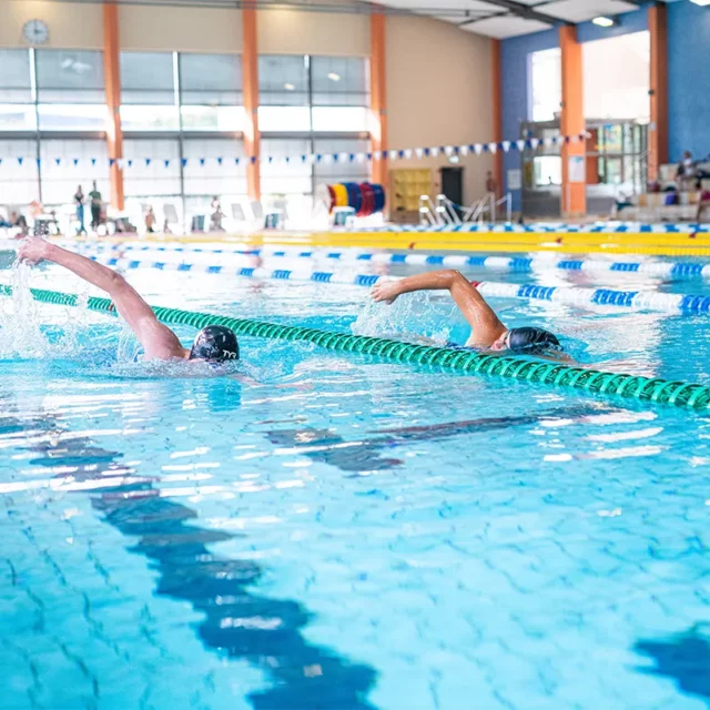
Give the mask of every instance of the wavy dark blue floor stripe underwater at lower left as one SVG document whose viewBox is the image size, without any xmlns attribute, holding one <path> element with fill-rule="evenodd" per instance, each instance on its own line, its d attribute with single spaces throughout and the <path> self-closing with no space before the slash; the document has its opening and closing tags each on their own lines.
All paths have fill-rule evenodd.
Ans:
<svg viewBox="0 0 710 710">
<path fill-rule="evenodd" d="M 0 404 L 7 412 L 10 403 L 0 396 Z M 106 523 L 138 538 L 130 550 L 144 556 L 158 572 L 156 594 L 189 601 L 205 615 L 197 628 L 205 648 L 246 659 L 271 679 L 272 688 L 248 696 L 254 708 L 373 708 L 365 698 L 376 678 L 374 669 L 310 643 L 301 633 L 310 620 L 301 604 L 254 594 L 250 588 L 263 572 L 258 565 L 219 557 L 207 548 L 233 535 L 197 527 L 196 513 L 161 497 L 153 487 L 156 479 L 122 465 L 121 454 L 89 438 L 68 436 L 51 414 L 4 414 L 2 427 L 6 433 L 34 429 L 61 435 L 27 447 L 38 454 L 30 463 L 65 467 L 67 473 L 55 479 L 64 479 L 74 490 L 89 490 L 92 506 Z"/>
</svg>

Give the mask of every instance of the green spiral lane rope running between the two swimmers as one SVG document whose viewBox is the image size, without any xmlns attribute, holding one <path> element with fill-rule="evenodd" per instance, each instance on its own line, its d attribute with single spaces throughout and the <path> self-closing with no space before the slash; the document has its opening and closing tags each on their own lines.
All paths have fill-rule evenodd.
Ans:
<svg viewBox="0 0 710 710">
<path fill-rule="evenodd" d="M 32 288 L 31 292 L 37 301 L 43 303 L 67 306 L 80 304 L 80 298 L 75 294 L 38 288 Z M 0 295 L 12 295 L 12 288 L 0 284 Z M 87 306 L 91 311 L 115 312 L 109 298 L 92 296 Z M 595 395 L 617 395 L 691 409 L 703 409 L 710 406 L 710 387 L 687 382 L 669 382 L 668 379 L 605 373 L 521 357 L 485 355 L 450 347 L 413 345 L 382 337 L 332 333 L 316 328 L 277 325 L 263 321 L 232 318 L 178 308 L 155 307 L 153 311 L 160 321 L 169 325 L 191 325 L 195 328 L 203 328 L 206 325 L 224 325 L 232 328 L 237 335 L 304 341 L 331 351 L 375 355 L 396 363 L 438 366 L 465 375 L 509 377 L 552 387 L 571 387 Z"/>
</svg>

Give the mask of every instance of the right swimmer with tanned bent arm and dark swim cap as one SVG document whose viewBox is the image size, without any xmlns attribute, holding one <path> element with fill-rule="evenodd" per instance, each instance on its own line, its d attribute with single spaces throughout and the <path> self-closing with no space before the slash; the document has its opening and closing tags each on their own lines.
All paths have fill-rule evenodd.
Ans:
<svg viewBox="0 0 710 710">
<path fill-rule="evenodd" d="M 394 303 L 402 294 L 413 291 L 448 291 L 452 294 L 471 328 L 470 337 L 466 341 L 467 347 L 566 359 L 560 355 L 562 347 L 559 341 L 549 331 L 537 327 L 508 329 L 476 286 L 457 271 L 435 271 L 378 283 L 373 287 L 372 295 L 374 301 Z"/>
</svg>

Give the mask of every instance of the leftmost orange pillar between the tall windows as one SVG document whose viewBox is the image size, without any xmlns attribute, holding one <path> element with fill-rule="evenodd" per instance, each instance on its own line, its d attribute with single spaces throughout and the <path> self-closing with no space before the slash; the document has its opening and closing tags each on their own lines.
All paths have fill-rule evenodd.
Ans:
<svg viewBox="0 0 710 710">
<path fill-rule="evenodd" d="M 119 60 L 119 6 L 103 4 L 103 75 L 106 92 L 106 148 L 112 164 L 111 204 L 123 210 L 123 131 L 121 130 L 121 64 Z"/>
</svg>

